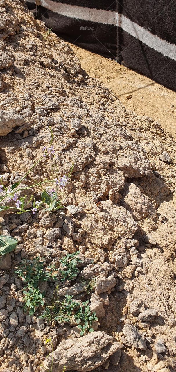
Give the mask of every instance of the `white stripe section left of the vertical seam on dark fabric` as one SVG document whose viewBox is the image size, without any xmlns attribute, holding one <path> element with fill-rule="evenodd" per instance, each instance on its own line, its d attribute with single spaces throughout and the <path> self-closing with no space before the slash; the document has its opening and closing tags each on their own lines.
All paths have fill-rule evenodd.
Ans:
<svg viewBox="0 0 176 372">
<path fill-rule="evenodd" d="M 90 22 L 106 23 L 116 25 L 116 13 L 110 10 L 101 10 L 86 8 L 70 4 L 57 3 L 51 0 L 40 0 L 40 4 L 52 12 L 59 13 L 63 16 L 83 19 Z"/>
</svg>

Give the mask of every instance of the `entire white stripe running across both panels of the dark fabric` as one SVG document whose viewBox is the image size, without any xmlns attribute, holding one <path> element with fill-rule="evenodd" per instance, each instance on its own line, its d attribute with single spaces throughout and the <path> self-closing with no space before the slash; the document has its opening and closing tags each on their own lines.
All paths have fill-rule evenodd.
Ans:
<svg viewBox="0 0 176 372">
<path fill-rule="evenodd" d="M 39 0 L 39 2 L 41 6 L 63 16 L 121 27 L 129 35 L 134 36 L 134 38 L 148 45 L 148 47 L 176 61 L 175 44 L 153 35 L 120 13 L 112 12 L 111 10 L 57 3 L 51 0 Z"/>
</svg>

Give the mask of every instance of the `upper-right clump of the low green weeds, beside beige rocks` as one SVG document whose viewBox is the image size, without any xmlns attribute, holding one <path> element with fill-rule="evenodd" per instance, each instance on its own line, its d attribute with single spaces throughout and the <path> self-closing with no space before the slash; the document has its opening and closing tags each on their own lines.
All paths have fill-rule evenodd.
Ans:
<svg viewBox="0 0 176 372">
<path fill-rule="evenodd" d="M 61 282 L 67 280 L 74 280 L 78 273 L 79 269 L 77 268 L 78 263 L 82 263 L 81 259 L 78 257 L 80 251 L 75 253 L 68 253 L 65 257 L 60 259 L 61 264 L 65 267 L 65 270 L 60 270 Z"/>
</svg>

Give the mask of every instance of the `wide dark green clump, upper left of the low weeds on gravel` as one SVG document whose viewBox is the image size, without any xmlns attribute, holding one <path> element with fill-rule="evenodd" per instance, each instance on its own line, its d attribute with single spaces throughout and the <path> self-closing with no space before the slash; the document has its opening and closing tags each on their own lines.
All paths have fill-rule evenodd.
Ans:
<svg viewBox="0 0 176 372">
<path fill-rule="evenodd" d="M 47 271 L 44 269 L 44 263 L 39 257 L 36 257 L 36 259 L 27 264 L 22 263 L 19 269 L 15 271 L 15 274 L 22 278 L 23 282 L 28 283 L 28 287 L 37 288 L 39 281 L 46 282 L 47 280 L 57 279 L 55 268 L 48 266 L 47 268 L 50 271 Z"/>
</svg>

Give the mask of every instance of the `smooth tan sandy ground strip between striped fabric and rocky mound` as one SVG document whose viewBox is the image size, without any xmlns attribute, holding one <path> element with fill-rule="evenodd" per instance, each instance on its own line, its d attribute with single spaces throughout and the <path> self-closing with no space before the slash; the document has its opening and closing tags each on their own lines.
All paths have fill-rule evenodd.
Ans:
<svg viewBox="0 0 176 372">
<path fill-rule="evenodd" d="M 176 93 L 100 55 L 71 44 L 82 68 L 138 115 L 150 116 L 176 140 Z M 127 99 L 127 96 L 132 98 Z"/>
</svg>

